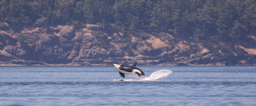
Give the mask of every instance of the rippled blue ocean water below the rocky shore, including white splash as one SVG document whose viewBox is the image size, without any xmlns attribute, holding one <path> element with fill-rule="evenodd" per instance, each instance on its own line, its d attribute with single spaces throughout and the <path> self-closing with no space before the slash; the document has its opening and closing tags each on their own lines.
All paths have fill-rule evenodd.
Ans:
<svg viewBox="0 0 256 106">
<path fill-rule="evenodd" d="M 0 67 L 0 105 L 256 105 L 256 67 L 138 68 Z"/>
</svg>

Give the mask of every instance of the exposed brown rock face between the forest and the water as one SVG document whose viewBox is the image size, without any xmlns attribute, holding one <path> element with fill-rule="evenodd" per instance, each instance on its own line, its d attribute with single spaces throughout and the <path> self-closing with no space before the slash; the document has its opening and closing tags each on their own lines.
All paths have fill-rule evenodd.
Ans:
<svg viewBox="0 0 256 106">
<path fill-rule="evenodd" d="M 12 30 L 0 31 L 1 65 L 256 65 L 256 37 L 234 48 L 220 43 L 206 48 L 168 33 L 97 33 L 101 26 L 84 24 L 23 29 L 24 42 Z M 111 32 L 111 33 L 110 33 Z M 143 35 L 143 37 L 142 37 Z M 146 36 L 146 37 L 145 37 Z"/>
</svg>

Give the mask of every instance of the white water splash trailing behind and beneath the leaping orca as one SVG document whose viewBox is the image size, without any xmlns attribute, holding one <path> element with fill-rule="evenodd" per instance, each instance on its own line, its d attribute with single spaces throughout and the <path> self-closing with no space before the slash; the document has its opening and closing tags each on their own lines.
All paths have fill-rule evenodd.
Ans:
<svg viewBox="0 0 256 106">
<path fill-rule="evenodd" d="M 161 69 L 161 70 L 151 73 L 151 75 L 149 77 L 145 77 L 144 79 L 141 79 L 141 80 L 124 79 L 124 80 L 113 80 L 113 81 L 153 81 L 153 80 L 158 80 L 158 79 L 167 77 L 171 73 L 172 73 L 172 71 L 170 71 L 170 70 Z"/>
</svg>

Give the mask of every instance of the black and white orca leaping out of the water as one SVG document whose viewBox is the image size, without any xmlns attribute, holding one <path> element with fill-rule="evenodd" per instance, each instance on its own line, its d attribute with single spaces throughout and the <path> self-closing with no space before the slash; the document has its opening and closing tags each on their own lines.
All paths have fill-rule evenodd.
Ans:
<svg viewBox="0 0 256 106">
<path fill-rule="evenodd" d="M 132 74 L 132 75 L 138 75 L 141 79 L 144 79 L 145 78 L 144 72 L 139 68 L 137 68 L 136 64 L 137 63 L 135 63 L 133 66 L 129 66 L 129 65 L 114 63 L 113 65 L 117 69 L 117 71 L 119 72 L 122 78 L 125 77 L 124 74 Z"/>
</svg>

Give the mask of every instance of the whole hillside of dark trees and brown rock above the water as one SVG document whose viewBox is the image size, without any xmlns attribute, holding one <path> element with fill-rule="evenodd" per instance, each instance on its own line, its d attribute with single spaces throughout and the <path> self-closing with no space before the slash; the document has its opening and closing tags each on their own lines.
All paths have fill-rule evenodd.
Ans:
<svg viewBox="0 0 256 106">
<path fill-rule="evenodd" d="M 255 65 L 256 0 L 0 0 L 2 65 Z"/>
</svg>

